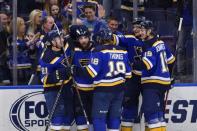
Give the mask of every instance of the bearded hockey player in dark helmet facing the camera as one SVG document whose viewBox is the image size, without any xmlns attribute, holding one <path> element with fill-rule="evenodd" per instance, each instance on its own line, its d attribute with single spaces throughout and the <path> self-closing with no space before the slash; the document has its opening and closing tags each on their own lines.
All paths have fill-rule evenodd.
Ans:
<svg viewBox="0 0 197 131">
<path fill-rule="evenodd" d="M 78 67 L 87 66 L 90 62 L 91 50 L 94 48 L 94 43 L 90 41 L 90 32 L 85 25 L 72 25 L 70 27 L 70 36 L 74 40 L 74 53 L 72 64 Z M 84 77 L 81 72 L 73 74 L 75 80 L 75 88 L 79 91 L 81 101 L 83 102 L 84 109 L 87 113 L 88 120 L 91 121 L 92 109 L 92 95 L 93 95 L 93 80 Z M 84 116 L 82 106 L 80 105 L 77 92 L 74 93 L 74 110 L 75 122 L 78 131 L 88 131 L 86 116 Z"/>
</svg>

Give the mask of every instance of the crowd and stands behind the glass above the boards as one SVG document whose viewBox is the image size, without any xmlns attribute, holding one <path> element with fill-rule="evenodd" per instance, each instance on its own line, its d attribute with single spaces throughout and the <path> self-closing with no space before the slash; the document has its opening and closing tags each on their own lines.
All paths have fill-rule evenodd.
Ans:
<svg viewBox="0 0 197 131">
<path fill-rule="evenodd" d="M 0 83 L 12 83 L 12 0 L 0 0 Z M 18 0 L 17 71 L 19 84 L 27 84 L 37 67 L 44 36 L 54 23 L 68 34 L 72 24 L 71 0 Z M 191 44 L 192 0 L 139 0 L 138 15 L 152 20 L 161 36 L 176 36 L 177 19 L 184 18 L 180 52 L 185 56 Z M 77 24 L 84 24 L 92 34 L 110 28 L 114 34 L 131 33 L 132 0 L 77 0 Z M 167 28 L 166 28 L 167 27 Z M 185 34 L 184 34 L 185 33 Z M 189 39 L 189 42 L 188 42 Z M 174 39 L 173 39 L 174 40 Z M 170 40 L 171 43 L 175 43 Z M 191 44 L 192 45 L 192 44 Z M 190 49 L 190 47 L 189 47 Z M 191 54 L 189 54 L 190 56 Z M 180 73 L 186 70 L 179 69 Z M 190 67 L 191 69 L 191 67 Z M 36 83 L 39 84 L 39 83 Z"/>
</svg>

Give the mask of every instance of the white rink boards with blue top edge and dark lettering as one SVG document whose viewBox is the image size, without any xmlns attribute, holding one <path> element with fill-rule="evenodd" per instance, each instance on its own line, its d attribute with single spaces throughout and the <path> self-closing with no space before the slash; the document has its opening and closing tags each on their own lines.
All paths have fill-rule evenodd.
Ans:
<svg viewBox="0 0 197 131">
<path fill-rule="evenodd" d="M 0 131 L 44 131 L 48 114 L 42 91 L 41 86 L 0 86 Z M 170 90 L 166 118 L 168 131 L 197 130 L 197 84 Z M 142 120 L 134 131 L 143 127 Z"/>
</svg>

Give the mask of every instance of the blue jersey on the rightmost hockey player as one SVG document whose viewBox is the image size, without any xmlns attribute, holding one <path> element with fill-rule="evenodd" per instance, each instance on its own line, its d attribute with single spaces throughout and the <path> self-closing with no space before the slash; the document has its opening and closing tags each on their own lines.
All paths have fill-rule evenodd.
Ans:
<svg viewBox="0 0 197 131">
<path fill-rule="evenodd" d="M 156 40 L 142 57 L 146 69 L 142 71 L 141 83 L 171 84 L 168 64 L 175 61 L 175 57 L 162 40 Z"/>
</svg>

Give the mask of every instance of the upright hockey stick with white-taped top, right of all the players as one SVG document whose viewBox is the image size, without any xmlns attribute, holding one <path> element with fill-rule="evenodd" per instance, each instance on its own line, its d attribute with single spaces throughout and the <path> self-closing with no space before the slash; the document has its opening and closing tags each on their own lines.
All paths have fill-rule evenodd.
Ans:
<svg viewBox="0 0 197 131">
<path fill-rule="evenodd" d="M 181 29 L 182 29 L 182 23 L 183 23 L 183 18 L 181 17 L 180 20 L 179 20 L 179 27 L 178 27 L 178 32 L 177 32 L 177 41 L 179 39 L 179 34 L 181 32 Z M 176 59 L 175 59 L 174 65 L 172 67 L 172 73 L 171 73 L 171 78 L 172 79 L 174 79 L 174 73 L 175 73 L 175 69 L 176 69 L 177 55 L 178 55 L 178 49 L 179 49 L 177 41 L 176 41 L 176 45 L 175 45 L 176 46 L 176 48 L 175 48 L 175 58 Z M 171 86 L 173 86 L 173 85 L 171 85 Z M 165 99 L 164 99 L 164 102 L 165 102 L 164 110 L 165 111 L 166 111 L 166 106 L 168 104 L 167 102 L 168 102 L 169 92 L 170 92 L 170 90 L 167 90 L 166 95 L 165 95 Z"/>
</svg>

